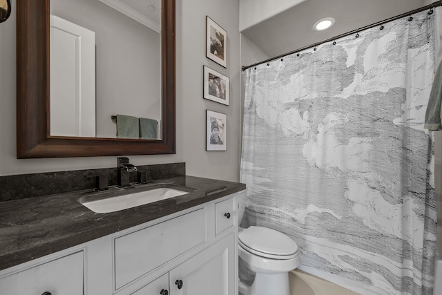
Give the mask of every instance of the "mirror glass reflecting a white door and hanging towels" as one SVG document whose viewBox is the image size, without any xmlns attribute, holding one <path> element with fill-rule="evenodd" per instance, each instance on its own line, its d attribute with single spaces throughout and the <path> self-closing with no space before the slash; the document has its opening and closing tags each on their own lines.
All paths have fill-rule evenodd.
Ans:
<svg viewBox="0 0 442 295">
<path fill-rule="evenodd" d="M 51 1 L 50 135 L 158 139 L 160 11 L 160 0 Z"/>
</svg>

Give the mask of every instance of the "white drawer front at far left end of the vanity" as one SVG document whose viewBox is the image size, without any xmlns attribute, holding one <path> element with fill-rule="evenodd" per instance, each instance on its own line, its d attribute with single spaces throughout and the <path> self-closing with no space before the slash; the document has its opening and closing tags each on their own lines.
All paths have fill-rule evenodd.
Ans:
<svg viewBox="0 0 442 295">
<path fill-rule="evenodd" d="M 0 279 L 0 293 L 8 295 L 83 295 L 84 253 L 79 251 Z"/>
</svg>

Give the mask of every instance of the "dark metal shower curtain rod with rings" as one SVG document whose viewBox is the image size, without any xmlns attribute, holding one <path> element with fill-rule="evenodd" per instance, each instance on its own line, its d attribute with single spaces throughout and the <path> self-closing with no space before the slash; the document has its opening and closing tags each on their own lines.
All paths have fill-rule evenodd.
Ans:
<svg viewBox="0 0 442 295">
<path fill-rule="evenodd" d="M 427 6 L 423 6 L 423 7 L 421 7 L 421 8 L 415 9 L 415 10 L 411 10 L 410 12 L 405 12 L 405 13 L 403 13 L 403 14 L 401 14 L 401 15 L 396 15 L 396 17 L 390 17 L 390 19 L 385 19 L 385 20 L 383 20 L 383 21 L 378 21 L 377 23 L 372 23 L 371 25 L 364 26 L 364 27 L 362 27 L 362 28 L 358 28 L 357 30 L 352 30 L 352 31 L 350 31 L 350 32 L 346 32 L 346 33 L 344 33 L 344 34 L 341 34 L 341 35 L 338 35 L 338 36 L 335 36 L 335 37 L 332 37 L 332 38 L 329 38 L 329 39 L 326 39 L 326 40 L 320 41 L 320 42 L 318 42 L 318 43 L 314 43 L 314 44 L 311 44 L 311 45 L 309 45 L 309 46 L 305 46 L 305 47 L 302 47 L 302 48 L 298 48 L 298 49 L 296 49 L 296 50 L 290 51 L 289 53 L 285 53 L 285 54 L 283 54 L 283 55 L 278 55 L 277 57 L 272 57 L 272 58 L 270 58 L 270 59 L 266 59 L 266 60 L 264 60 L 264 61 L 260 61 L 260 62 L 258 62 L 258 63 L 256 63 L 256 64 L 251 64 L 250 66 L 242 66 L 242 70 L 244 71 L 244 70 L 247 70 L 247 68 L 251 68 L 252 66 L 258 66 L 258 65 L 260 65 L 260 64 L 264 64 L 264 63 L 269 62 L 269 61 L 274 61 L 274 60 L 276 60 L 276 59 L 280 59 L 281 57 L 286 57 L 287 55 L 292 55 L 292 54 L 294 54 L 294 53 L 299 53 L 299 52 L 302 51 L 302 50 L 306 50 L 306 49 L 308 49 L 308 48 L 316 47 L 316 46 L 318 46 L 318 45 L 320 45 L 320 44 L 324 44 L 324 43 L 327 43 L 327 42 L 330 42 L 330 41 L 334 41 L 334 40 L 339 39 L 339 38 L 341 38 L 341 37 L 346 37 L 346 36 L 352 35 L 352 34 L 354 34 L 354 33 L 358 34 L 358 32 L 361 32 L 362 30 L 367 30 L 367 29 L 369 29 L 369 28 L 374 28 L 374 27 L 376 27 L 376 26 L 380 26 L 380 25 L 382 25 L 382 24 L 384 24 L 384 23 L 388 23 L 388 22 L 390 22 L 390 21 L 396 21 L 396 19 L 401 19 L 402 17 L 407 17 L 407 16 L 411 17 L 411 15 L 414 15 L 414 13 L 421 12 L 421 11 L 424 11 L 424 10 L 427 10 L 427 9 L 432 9 L 432 8 L 435 8 L 435 7 L 438 7 L 438 6 L 442 6 L 442 0 L 440 0 L 440 1 L 436 1 L 436 2 L 434 2 L 434 3 L 431 3 L 431 4 L 427 5 Z M 430 12 L 429 12 L 429 13 L 430 13 Z M 432 12 L 432 13 L 433 13 L 433 12 Z M 430 13 L 430 14 L 431 14 L 431 13 Z M 411 21 L 411 20 L 412 20 L 412 19 L 410 19 L 410 21 Z M 357 37 L 358 37 L 358 36 L 357 36 Z"/>
</svg>

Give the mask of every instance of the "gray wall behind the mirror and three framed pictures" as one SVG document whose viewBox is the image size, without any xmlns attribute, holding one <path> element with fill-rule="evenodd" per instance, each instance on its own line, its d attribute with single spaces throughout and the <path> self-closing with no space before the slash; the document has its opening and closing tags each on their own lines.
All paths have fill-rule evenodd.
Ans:
<svg viewBox="0 0 442 295">
<path fill-rule="evenodd" d="M 240 166 L 239 0 L 176 0 L 177 3 L 177 153 L 131 156 L 133 164 L 186 162 L 188 175 L 238 181 Z M 116 157 L 21 159 L 16 155 L 16 0 L 12 15 L 0 23 L 0 175 L 108 168 Z M 227 68 L 206 59 L 209 15 L 228 34 Z M 202 66 L 230 78 L 230 106 L 202 98 Z M 227 114 L 227 151 L 205 151 L 206 109 Z"/>
</svg>

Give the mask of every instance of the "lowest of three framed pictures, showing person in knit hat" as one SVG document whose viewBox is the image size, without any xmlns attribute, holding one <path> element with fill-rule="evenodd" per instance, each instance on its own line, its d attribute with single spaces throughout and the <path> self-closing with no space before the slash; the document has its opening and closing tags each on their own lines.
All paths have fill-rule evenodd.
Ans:
<svg viewBox="0 0 442 295">
<path fill-rule="evenodd" d="M 206 110 L 206 151 L 227 151 L 227 115 Z"/>
</svg>

